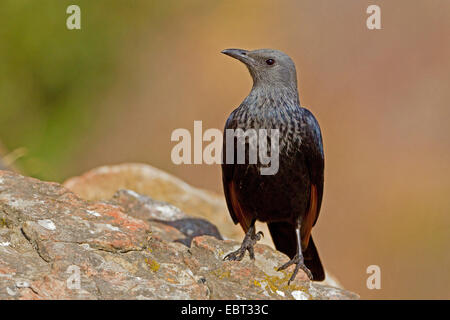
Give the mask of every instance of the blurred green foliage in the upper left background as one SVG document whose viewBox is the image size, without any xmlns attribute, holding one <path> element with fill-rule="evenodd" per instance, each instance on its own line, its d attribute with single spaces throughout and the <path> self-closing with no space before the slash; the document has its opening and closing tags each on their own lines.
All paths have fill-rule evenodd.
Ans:
<svg viewBox="0 0 450 320">
<path fill-rule="evenodd" d="M 81 8 L 81 30 L 68 30 L 66 9 Z M 88 139 L 95 99 L 111 85 L 121 41 L 161 21 L 166 1 L 0 2 L 0 141 L 25 147 L 16 165 L 60 180 L 64 164 Z"/>
</svg>

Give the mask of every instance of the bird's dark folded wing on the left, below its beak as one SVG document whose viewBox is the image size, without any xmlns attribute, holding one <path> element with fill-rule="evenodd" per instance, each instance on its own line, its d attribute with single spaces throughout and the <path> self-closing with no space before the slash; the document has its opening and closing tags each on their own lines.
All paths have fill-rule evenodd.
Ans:
<svg viewBox="0 0 450 320">
<path fill-rule="evenodd" d="M 246 214 L 238 201 L 238 189 L 236 184 L 233 181 L 234 168 L 236 163 L 236 152 L 234 152 L 234 161 L 233 163 L 226 163 L 226 152 L 227 152 L 227 143 L 226 143 L 226 129 L 236 129 L 237 124 L 236 121 L 233 120 L 234 112 L 228 118 L 225 129 L 223 131 L 223 148 L 222 148 L 222 183 L 223 183 L 223 191 L 225 193 L 225 199 L 227 201 L 228 211 L 230 212 L 231 218 L 233 219 L 234 224 L 239 223 L 244 229 L 244 232 L 247 232 L 250 228 L 252 217 L 249 214 Z M 234 148 L 236 151 L 236 142 L 230 148 Z"/>
</svg>

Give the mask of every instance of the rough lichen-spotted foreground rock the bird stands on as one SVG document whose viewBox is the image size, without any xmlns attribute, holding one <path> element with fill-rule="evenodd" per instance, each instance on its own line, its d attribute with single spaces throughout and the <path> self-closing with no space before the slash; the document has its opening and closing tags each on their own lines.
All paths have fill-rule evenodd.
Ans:
<svg viewBox="0 0 450 320">
<path fill-rule="evenodd" d="M 189 231 L 191 230 L 191 231 Z M 287 256 L 223 261 L 239 242 L 210 222 L 133 191 L 86 201 L 0 171 L 0 299 L 356 299 L 316 282 L 287 285 Z"/>
</svg>

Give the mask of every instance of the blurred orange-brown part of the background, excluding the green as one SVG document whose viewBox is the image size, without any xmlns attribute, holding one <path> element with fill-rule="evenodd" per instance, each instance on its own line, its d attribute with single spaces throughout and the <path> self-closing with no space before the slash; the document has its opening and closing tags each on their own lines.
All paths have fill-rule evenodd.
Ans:
<svg viewBox="0 0 450 320">
<path fill-rule="evenodd" d="M 371 4 L 381 30 L 366 27 Z M 94 125 L 78 132 L 60 180 L 145 162 L 222 193 L 220 166 L 171 162 L 171 133 L 193 132 L 194 120 L 222 130 L 250 91 L 246 68 L 221 50 L 279 49 L 322 128 L 313 233 L 325 267 L 362 298 L 449 299 L 450 1 L 192 1 L 164 12 L 158 23 L 141 13 L 120 38 L 117 73 L 95 92 Z M 95 33 L 88 18 L 79 32 Z M 380 290 L 366 287 L 369 265 Z"/>
</svg>

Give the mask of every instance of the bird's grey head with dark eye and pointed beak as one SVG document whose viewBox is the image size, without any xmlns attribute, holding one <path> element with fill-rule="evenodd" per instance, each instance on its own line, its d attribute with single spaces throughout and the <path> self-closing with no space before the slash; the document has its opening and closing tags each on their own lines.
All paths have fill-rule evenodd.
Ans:
<svg viewBox="0 0 450 320">
<path fill-rule="evenodd" d="M 279 50 L 225 49 L 222 51 L 244 63 L 253 78 L 253 86 L 284 87 L 297 90 L 295 64 Z"/>
</svg>

